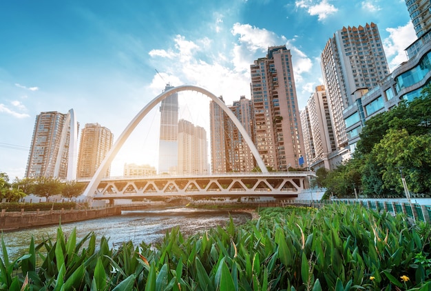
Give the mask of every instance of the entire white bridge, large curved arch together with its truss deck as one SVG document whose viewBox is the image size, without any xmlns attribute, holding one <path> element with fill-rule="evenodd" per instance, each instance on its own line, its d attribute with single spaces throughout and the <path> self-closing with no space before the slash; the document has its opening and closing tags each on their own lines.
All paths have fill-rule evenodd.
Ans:
<svg viewBox="0 0 431 291">
<path fill-rule="evenodd" d="M 169 177 L 160 175 L 155 177 L 103 178 L 110 163 L 145 115 L 163 99 L 166 99 L 171 94 L 182 91 L 200 92 L 224 110 L 238 128 L 242 137 L 244 137 L 244 141 L 249 145 L 262 172 L 195 175 L 195 177 Z M 99 165 L 94 177 L 88 183 L 84 195 L 93 199 L 141 198 L 168 194 L 170 196 L 187 195 L 189 197 L 268 196 L 269 194 L 279 197 L 297 197 L 297 194 L 304 190 L 306 177 L 310 174 L 311 172 L 268 172 L 257 148 L 242 126 L 242 123 L 235 117 L 235 114 L 208 90 L 198 86 L 184 85 L 162 92 L 162 94 L 151 100 L 147 106 L 136 114 L 136 117 L 123 130 L 123 133 L 120 134 L 116 143 L 114 143 L 101 165 Z"/>
</svg>

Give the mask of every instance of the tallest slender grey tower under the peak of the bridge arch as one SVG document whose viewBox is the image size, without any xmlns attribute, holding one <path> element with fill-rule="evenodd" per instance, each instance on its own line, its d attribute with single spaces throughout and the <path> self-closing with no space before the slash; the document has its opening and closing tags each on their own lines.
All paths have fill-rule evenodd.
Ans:
<svg viewBox="0 0 431 291">
<path fill-rule="evenodd" d="M 174 88 L 166 85 L 165 91 Z M 160 139 L 158 173 L 175 174 L 178 165 L 178 93 L 162 100 L 160 106 Z"/>
</svg>

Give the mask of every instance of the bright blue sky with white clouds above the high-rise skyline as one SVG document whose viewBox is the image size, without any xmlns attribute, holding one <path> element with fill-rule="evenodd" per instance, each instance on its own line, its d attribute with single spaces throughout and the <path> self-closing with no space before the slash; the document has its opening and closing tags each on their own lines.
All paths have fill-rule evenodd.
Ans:
<svg viewBox="0 0 431 291">
<path fill-rule="evenodd" d="M 391 71 L 415 39 L 403 0 L 0 1 L 0 172 L 25 175 L 40 112 L 73 108 L 80 131 L 119 137 L 166 83 L 227 105 L 250 98 L 250 65 L 269 46 L 291 50 L 299 108 L 323 83 L 320 54 L 348 26 L 377 24 Z M 180 92 L 180 118 L 208 128 L 209 98 Z M 112 162 L 157 166 L 158 107 Z"/>
</svg>

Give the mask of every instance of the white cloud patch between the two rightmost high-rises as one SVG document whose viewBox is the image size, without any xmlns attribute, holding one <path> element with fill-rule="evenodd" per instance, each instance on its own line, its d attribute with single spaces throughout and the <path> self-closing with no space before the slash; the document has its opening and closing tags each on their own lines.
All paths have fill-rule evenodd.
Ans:
<svg viewBox="0 0 431 291">
<path fill-rule="evenodd" d="M 417 38 L 411 21 L 405 26 L 397 28 L 386 28 L 389 37 L 383 39 L 383 47 L 386 58 L 388 59 L 390 70 L 399 66 L 403 61 L 407 61 L 406 52 L 404 51 Z"/>
</svg>

